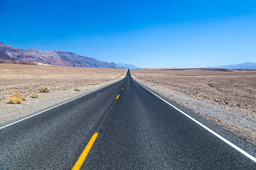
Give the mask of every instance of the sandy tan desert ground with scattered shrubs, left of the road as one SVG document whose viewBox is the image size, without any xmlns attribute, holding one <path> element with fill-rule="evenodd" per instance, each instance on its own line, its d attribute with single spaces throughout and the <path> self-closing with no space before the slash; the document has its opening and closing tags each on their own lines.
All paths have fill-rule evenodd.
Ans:
<svg viewBox="0 0 256 170">
<path fill-rule="evenodd" d="M 118 81 L 126 72 L 127 69 L 116 68 L 0 64 L 0 123 Z M 44 85 L 50 88 L 49 92 L 39 91 Z M 81 91 L 74 91 L 75 88 Z M 20 104 L 6 103 L 13 93 L 20 93 L 26 100 Z M 32 93 L 39 97 L 31 98 Z"/>
</svg>

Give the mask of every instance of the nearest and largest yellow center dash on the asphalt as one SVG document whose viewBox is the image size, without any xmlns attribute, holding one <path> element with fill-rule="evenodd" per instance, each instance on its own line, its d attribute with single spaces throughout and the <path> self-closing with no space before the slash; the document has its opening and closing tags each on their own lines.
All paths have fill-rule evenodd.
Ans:
<svg viewBox="0 0 256 170">
<path fill-rule="evenodd" d="M 86 145 L 86 147 L 84 148 L 84 151 L 82 152 L 82 154 L 80 155 L 80 157 L 78 158 L 77 162 L 75 163 L 74 167 L 72 168 L 72 170 L 79 170 L 80 167 L 82 166 L 84 159 L 86 158 L 87 154 L 89 153 L 90 149 L 92 148 L 92 145 L 94 143 L 94 141 L 97 138 L 97 135 L 99 133 L 94 133 L 92 135 L 91 140 L 89 141 L 89 143 Z"/>
</svg>

